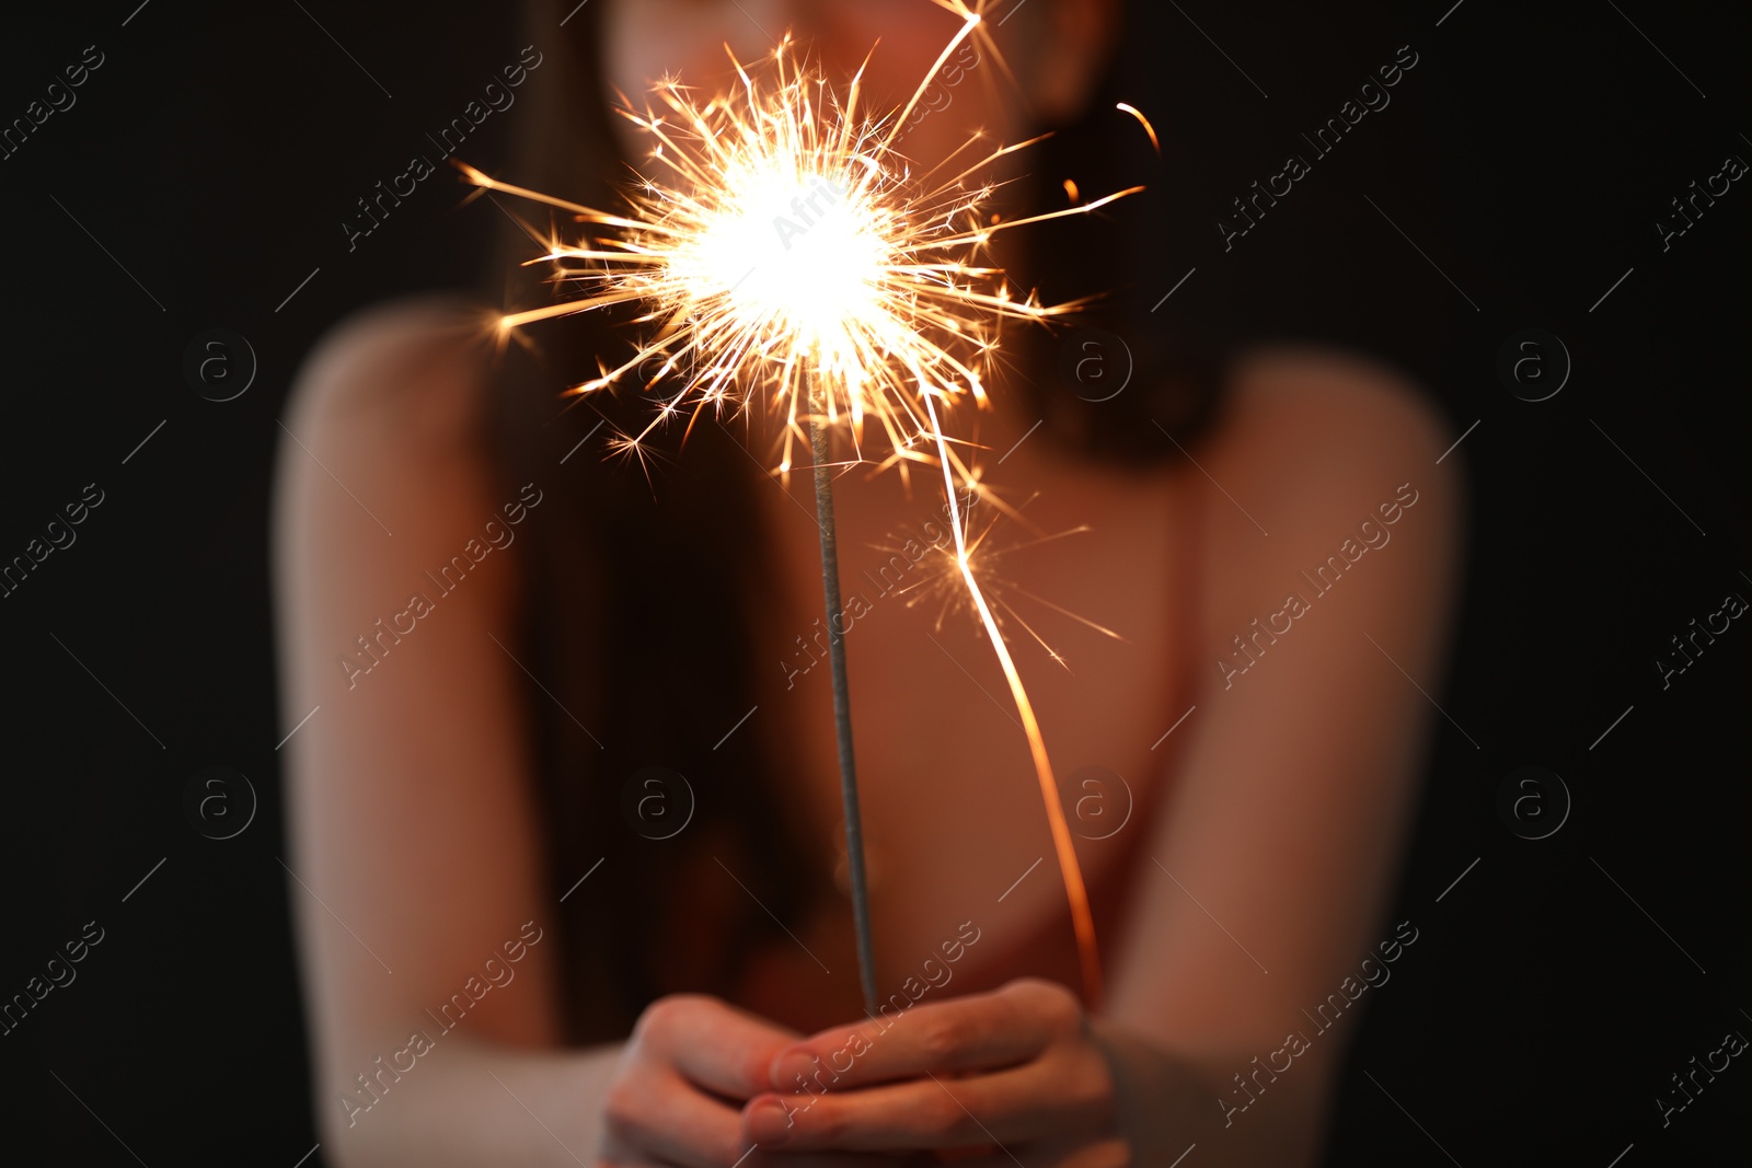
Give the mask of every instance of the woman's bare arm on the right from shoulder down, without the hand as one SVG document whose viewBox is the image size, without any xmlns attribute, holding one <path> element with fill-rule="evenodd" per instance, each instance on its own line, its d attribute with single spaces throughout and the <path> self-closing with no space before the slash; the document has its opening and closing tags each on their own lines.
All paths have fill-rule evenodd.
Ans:
<svg viewBox="0 0 1752 1168">
<path fill-rule="evenodd" d="M 1393 972 L 1382 942 L 1412 956 L 1417 921 L 1382 916 L 1459 581 L 1444 429 L 1384 369 L 1277 350 L 1239 368 L 1200 457 L 1223 489 L 1205 511 L 1205 683 L 1107 1014 L 1169 1058 L 1160 1073 L 1211 1091 L 1188 1100 L 1207 1163 L 1312 1161 L 1360 1012 L 1330 996 L 1367 1005 L 1365 977 Z M 1160 1135 L 1170 1157 L 1195 1138 Z"/>
</svg>

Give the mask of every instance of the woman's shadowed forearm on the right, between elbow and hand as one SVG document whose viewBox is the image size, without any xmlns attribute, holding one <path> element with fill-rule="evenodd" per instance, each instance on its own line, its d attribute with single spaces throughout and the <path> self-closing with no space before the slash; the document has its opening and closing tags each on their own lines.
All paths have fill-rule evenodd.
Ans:
<svg viewBox="0 0 1752 1168">
<path fill-rule="evenodd" d="M 1095 1038 L 1114 1073 L 1120 1133 L 1137 1164 L 1174 1164 L 1198 1145 L 1200 1164 L 1225 1168 L 1305 1168 L 1314 1163 L 1326 1105 L 1325 1066 L 1277 1075 L 1268 1091 L 1240 1108 L 1225 1108 L 1233 1068 L 1174 1054 L 1107 1019 Z"/>
</svg>

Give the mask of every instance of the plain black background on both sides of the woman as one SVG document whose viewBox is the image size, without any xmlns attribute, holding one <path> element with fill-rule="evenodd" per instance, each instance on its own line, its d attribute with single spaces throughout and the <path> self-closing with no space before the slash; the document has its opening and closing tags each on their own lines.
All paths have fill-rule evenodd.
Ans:
<svg viewBox="0 0 1752 1168">
<path fill-rule="evenodd" d="M 1473 504 L 1458 653 L 1424 686 L 1452 723 L 1393 918 L 1421 935 L 1367 995 L 1332 1163 L 1743 1161 L 1740 1061 L 1668 1128 L 1654 1103 L 1689 1058 L 1752 1033 L 1734 813 L 1752 632 L 1736 622 L 1666 690 L 1654 665 L 1687 622 L 1752 595 L 1752 193 L 1736 182 L 1668 250 L 1656 231 L 1692 180 L 1752 159 L 1743 30 L 1726 5 L 1449 4 L 1149 5 L 1121 70 L 1163 137 L 1151 214 L 1169 221 L 1160 271 L 1121 294 L 1155 303 L 1195 270 L 1163 313 L 1365 345 L 1431 389 L 1456 438 L 1477 422 L 1454 455 Z M 0 1140 L 81 1164 L 135 1163 L 124 1142 L 147 1164 L 291 1168 L 315 1136 L 287 930 L 303 893 L 277 862 L 277 419 L 336 319 L 477 282 L 496 212 L 459 210 L 447 173 L 352 252 L 340 221 L 524 40 L 512 5 L 135 5 L 9 14 L 0 46 L 7 123 L 86 46 L 105 54 L 0 159 L 0 557 L 86 483 L 105 492 L 0 601 L 0 995 L 82 923 L 107 930 L 0 1037 Z M 1402 44 L 1419 61 L 1393 105 L 1225 252 L 1230 198 L 1305 152 L 1298 131 Z M 494 114 L 470 161 L 503 163 L 517 116 Z M 230 403 L 182 375 L 210 327 L 261 362 Z M 1540 403 L 1496 375 L 1526 327 L 1573 359 Z M 208 765 L 261 799 L 230 841 L 184 818 Z M 1522 765 L 1573 797 L 1544 841 L 1496 811 Z"/>
</svg>

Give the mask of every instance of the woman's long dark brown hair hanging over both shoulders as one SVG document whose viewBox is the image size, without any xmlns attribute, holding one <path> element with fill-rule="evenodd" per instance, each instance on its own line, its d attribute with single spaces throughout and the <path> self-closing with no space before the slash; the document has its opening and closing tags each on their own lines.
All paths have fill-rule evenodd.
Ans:
<svg viewBox="0 0 1752 1168">
<path fill-rule="evenodd" d="M 524 88 L 527 107 L 506 179 L 613 207 L 627 170 L 596 60 L 603 5 L 578 7 L 561 28 L 571 7 L 573 0 L 526 0 L 526 39 L 543 61 Z M 1114 156 L 1116 130 L 1111 119 L 1069 128 L 1041 172 L 1102 182 L 1097 159 Z M 1135 149 L 1118 156 L 1137 161 Z M 527 214 L 527 207 L 506 210 Z M 1141 222 L 1148 208 L 1118 224 L 1067 224 L 1037 243 L 1027 270 L 1013 271 L 1046 299 L 1123 285 L 1123 261 L 1134 271 L 1151 263 Z M 1118 233 L 1130 235 L 1128 247 L 1116 247 Z M 540 284 L 545 273 L 517 266 L 534 250 L 520 229 L 506 229 L 489 280 L 508 308 L 554 298 Z M 1090 273 L 1077 259 L 1093 254 L 1114 263 L 1104 259 L 1104 270 Z M 1219 352 L 1170 333 L 1132 299 L 1099 303 L 1083 322 L 1127 338 L 1135 362 L 1127 392 L 1109 401 L 1076 392 L 1060 375 L 1070 368 L 1062 361 L 1065 340 L 1044 331 L 1016 338 L 1013 392 L 1072 448 L 1155 464 L 1177 448 L 1151 419 L 1183 445 L 1211 420 Z M 513 648 L 534 678 L 526 707 L 545 874 L 554 897 L 564 897 L 566 1024 L 580 1044 L 625 1035 L 664 993 L 727 995 L 739 960 L 762 940 L 783 939 L 780 923 L 797 925 L 830 879 L 832 862 L 829 842 L 809 841 L 778 795 L 799 777 L 787 774 L 790 760 L 762 756 L 755 734 L 722 737 L 755 702 L 746 616 L 771 594 L 760 576 L 771 560 L 752 496 L 764 487 L 759 464 L 736 434 L 701 422 L 687 457 L 646 482 L 636 468 L 604 462 L 601 450 L 604 434 L 636 433 L 648 420 L 652 405 L 636 387 L 573 408 L 559 398 L 590 376 L 599 357 L 627 352 L 629 336 L 615 327 L 624 319 L 585 313 L 540 331 L 536 345 L 513 345 L 492 396 L 503 482 L 534 482 L 545 496 L 517 545 L 522 625 Z M 657 786 L 648 785 L 653 776 Z M 673 837 L 653 839 L 669 828 L 661 816 L 646 821 L 632 811 L 646 792 L 666 800 L 662 811 L 676 825 L 685 814 L 692 820 Z M 715 863 L 752 895 L 734 890 Z M 587 872 L 590 881 L 578 886 Z M 713 893 L 722 888 L 734 897 Z"/>
</svg>

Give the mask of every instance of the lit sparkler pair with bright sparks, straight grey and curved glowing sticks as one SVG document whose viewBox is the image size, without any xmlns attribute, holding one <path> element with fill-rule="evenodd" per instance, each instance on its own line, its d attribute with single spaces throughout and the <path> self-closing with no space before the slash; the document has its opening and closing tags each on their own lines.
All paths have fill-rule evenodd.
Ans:
<svg viewBox="0 0 1752 1168">
<path fill-rule="evenodd" d="M 911 102 L 892 117 L 860 110 L 862 70 L 844 93 L 836 93 L 818 70 L 799 63 L 788 35 L 764 68 L 750 70 L 732 56 L 741 84 L 727 95 L 699 103 L 678 79 L 666 79 L 653 89 L 655 109 L 620 109 L 653 144 L 648 173 L 625 194 L 625 214 L 510 186 L 466 165 L 463 170 L 478 187 L 569 210 L 592 233 L 582 242 L 550 233 L 541 240 L 547 252 L 529 261 L 554 263 L 557 278 L 582 285 L 583 296 L 510 313 L 501 331 L 610 305 L 645 308 L 639 320 L 650 333 L 634 355 L 615 368 L 599 366 L 597 376 L 569 391 L 597 392 L 648 369 L 653 359 L 659 364 L 645 378 L 645 389 L 675 378 L 650 426 L 638 434 L 618 434 L 617 450 L 639 455 L 662 422 L 689 413 L 692 426 L 708 408 L 715 413 L 743 408 L 752 398 L 746 387 L 767 389 L 769 408 L 785 417 L 778 473 L 788 476 L 795 441 L 809 443 L 829 613 L 839 611 L 830 431 L 846 431 L 864 461 L 865 429 L 874 420 L 887 447 L 880 468 L 899 468 L 902 476 L 913 464 L 941 471 L 955 536 L 953 566 L 1028 737 L 1070 902 L 1083 991 L 1093 1007 L 1100 1000 L 1100 961 L 1088 893 L 1041 727 L 976 580 L 974 541 L 957 503 L 957 485 L 967 497 L 1009 508 L 960 457 L 962 443 L 944 419 L 967 403 L 990 408 L 983 375 L 1002 320 L 1044 322 L 1077 306 L 1044 306 L 1032 294 L 1016 299 L 1004 273 L 983 259 L 992 236 L 1090 214 L 1142 187 L 1002 221 L 988 210 L 999 184 L 978 175 L 1032 142 L 981 149 L 981 135 L 915 173 L 894 144 L 930 77 L 969 37 L 978 37 L 981 49 L 995 56 L 983 30 L 983 0 L 972 7 L 967 0 L 932 2 L 960 16 L 962 26 Z M 841 634 L 830 634 L 829 650 L 858 967 L 865 1005 L 874 1010 Z"/>
</svg>

